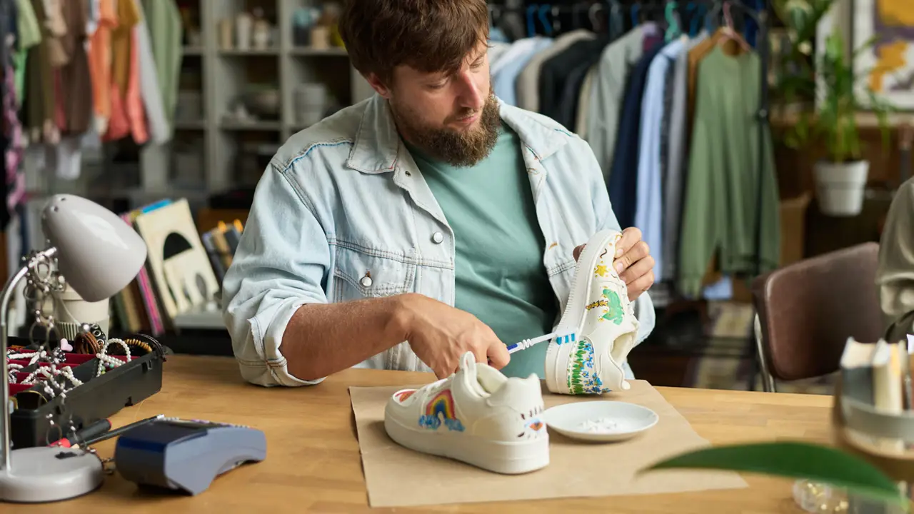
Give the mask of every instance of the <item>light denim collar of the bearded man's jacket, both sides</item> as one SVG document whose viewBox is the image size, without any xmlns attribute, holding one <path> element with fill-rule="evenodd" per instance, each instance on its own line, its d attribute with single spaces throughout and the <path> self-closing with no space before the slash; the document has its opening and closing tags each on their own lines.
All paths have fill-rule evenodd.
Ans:
<svg viewBox="0 0 914 514">
<path fill-rule="evenodd" d="M 549 126 L 536 115 L 497 100 L 502 120 L 539 160 L 554 154 L 569 141 L 570 134 Z M 564 134 L 568 137 L 556 137 Z M 345 166 L 362 173 L 394 171 L 401 141 L 388 101 L 375 94 L 368 101 L 356 132 L 356 141 Z"/>
</svg>

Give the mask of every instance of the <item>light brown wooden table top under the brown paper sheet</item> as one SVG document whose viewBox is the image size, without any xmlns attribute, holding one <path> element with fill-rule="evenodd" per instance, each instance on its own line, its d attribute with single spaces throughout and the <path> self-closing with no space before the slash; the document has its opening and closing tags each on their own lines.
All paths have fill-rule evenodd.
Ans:
<svg viewBox="0 0 914 514">
<path fill-rule="evenodd" d="M 400 371 L 349 369 L 314 387 L 265 389 L 241 380 L 230 358 L 171 356 L 162 391 L 127 407 L 114 426 L 158 413 L 246 424 L 267 434 L 265 461 L 218 477 L 197 496 L 142 493 L 117 474 L 82 498 L 47 505 L 4 505 L 0 512 L 373 512 L 349 403 L 349 386 L 422 383 L 433 376 Z M 830 397 L 745 391 L 658 388 L 715 444 L 772 439 L 829 441 Z M 97 446 L 110 456 L 113 441 Z M 801 512 L 793 505 L 791 480 L 744 476 L 749 488 L 637 497 L 571 498 L 494 504 L 463 504 L 420 511 L 467 512 Z M 409 509 L 398 509 L 409 510 Z M 417 510 L 419 511 L 419 510 Z"/>
</svg>

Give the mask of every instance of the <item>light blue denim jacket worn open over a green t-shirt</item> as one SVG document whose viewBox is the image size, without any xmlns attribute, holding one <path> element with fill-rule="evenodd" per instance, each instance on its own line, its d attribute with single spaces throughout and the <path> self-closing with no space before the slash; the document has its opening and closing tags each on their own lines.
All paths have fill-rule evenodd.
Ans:
<svg viewBox="0 0 914 514">
<path fill-rule="evenodd" d="M 543 262 L 561 312 L 574 274 L 572 251 L 599 230 L 620 230 L 619 222 L 586 142 L 536 112 L 504 102 L 500 112 L 523 143 L 547 241 Z M 293 377 L 280 353 L 295 311 L 408 292 L 453 305 L 453 232 L 387 101 L 375 95 L 292 135 L 260 178 L 223 282 L 223 314 L 241 375 L 264 386 L 320 382 Z M 654 329 L 647 294 L 635 314 L 640 343 Z M 408 342 L 358 367 L 430 371 Z"/>
</svg>

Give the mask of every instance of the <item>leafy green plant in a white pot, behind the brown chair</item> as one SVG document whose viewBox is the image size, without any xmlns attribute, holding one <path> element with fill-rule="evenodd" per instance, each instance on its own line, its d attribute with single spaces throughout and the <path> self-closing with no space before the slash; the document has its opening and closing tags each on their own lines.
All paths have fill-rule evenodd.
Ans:
<svg viewBox="0 0 914 514">
<path fill-rule="evenodd" d="M 798 113 L 796 123 L 785 134 L 784 143 L 794 149 L 824 145 L 824 158 L 813 168 L 819 208 L 829 216 L 855 216 L 863 209 L 869 175 L 869 163 L 863 158 L 858 114 L 865 111 L 875 114 L 883 145 L 887 146 L 888 113 L 893 108 L 861 80 L 865 79 L 865 72 L 854 70 L 856 56 L 870 48 L 873 40 L 848 56 L 844 37 L 835 30 L 826 38 L 818 57 L 813 59 L 815 66 L 805 55 L 810 51 L 815 27 L 833 2 L 776 3 L 776 10 L 785 24 L 792 26 L 795 40 L 791 55 L 785 60 L 791 70 L 784 74 L 775 91 L 780 92 L 781 100 L 788 104 L 814 99 L 813 108 Z"/>
</svg>

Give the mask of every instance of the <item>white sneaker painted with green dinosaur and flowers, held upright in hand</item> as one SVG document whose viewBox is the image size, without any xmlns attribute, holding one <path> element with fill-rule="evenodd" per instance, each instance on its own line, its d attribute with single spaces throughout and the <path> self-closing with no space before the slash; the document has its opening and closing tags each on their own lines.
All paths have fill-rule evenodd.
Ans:
<svg viewBox="0 0 914 514">
<path fill-rule="evenodd" d="M 546 351 L 546 385 L 560 394 L 626 390 L 622 363 L 638 334 L 625 282 L 612 267 L 622 233 L 602 230 L 578 258 L 569 301 Z"/>
</svg>

